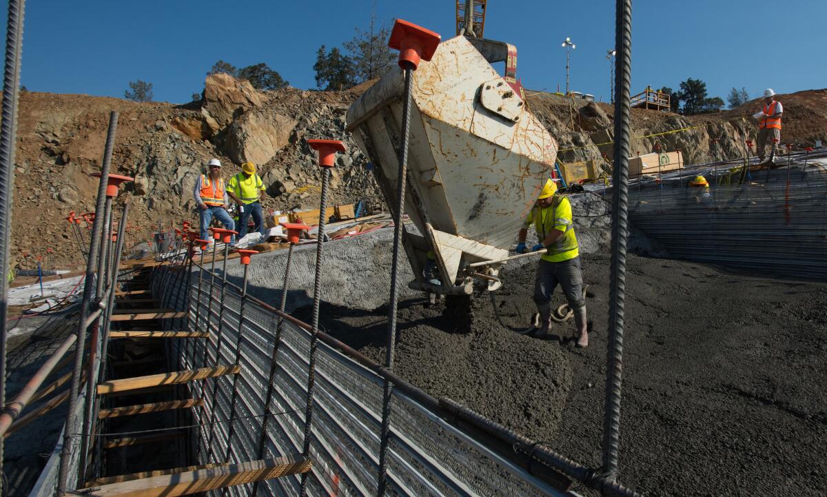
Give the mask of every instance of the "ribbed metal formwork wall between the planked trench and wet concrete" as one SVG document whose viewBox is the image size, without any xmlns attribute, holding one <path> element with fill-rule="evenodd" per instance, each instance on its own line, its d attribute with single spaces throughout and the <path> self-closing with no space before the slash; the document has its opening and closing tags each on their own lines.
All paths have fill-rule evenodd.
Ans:
<svg viewBox="0 0 827 497">
<path fill-rule="evenodd" d="M 182 278 L 184 275 L 175 275 Z M 191 289 L 190 326 L 195 329 L 198 313 L 200 327 L 207 327 L 208 291 L 198 307 L 197 277 Z M 179 284 L 155 285 L 162 302 L 184 307 L 184 288 Z M 237 346 L 241 296 L 227 285 L 218 303 L 220 288 L 213 289 L 213 331 L 209 339 L 170 341 L 170 355 L 179 358 L 182 367 L 231 364 Z M 218 315 L 221 315 L 219 328 Z M 224 461 L 227 449 L 231 461 L 256 458 L 261 433 L 261 414 L 270 357 L 279 318 L 255 301 L 244 305 L 241 327 L 241 375 L 237 381 L 235 413 L 231 413 L 232 377 L 219 377 L 189 384 L 190 394 L 201 395 L 205 404 L 193 409 L 192 442 L 200 456 L 194 464 Z M 173 325 L 174 326 L 174 325 Z M 304 402 L 307 395 L 309 332 L 285 321 L 277 356 L 273 398 L 267 411 L 283 413 L 268 423 L 265 457 L 301 452 L 304 432 Z M 216 356 L 218 330 L 221 347 Z M 204 345 L 207 345 L 204 356 Z M 206 357 L 206 360 L 204 360 Z M 379 465 L 380 422 L 383 379 L 375 372 L 352 361 L 341 352 L 319 344 L 316 364 L 316 412 L 313 423 L 311 456 L 313 474 L 308 481 L 308 495 L 375 495 Z M 200 385 L 198 385 L 200 384 Z M 218 385 L 213 399 L 213 385 Z M 394 423 L 390 440 L 390 495 L 562 495 L 518 466 L 504 461 L 464 432 L 452 427 L 437 414 L 417 404 L 399 391 L 394 392 Z M 227 420 L 214 423 L 213 419 Z M 227 441 L 230 423 L 234 424 L 232 441 Z M 209 437 L 213 431 L 211 445 Z M 211 451 L 212 449 L 212 451 Z M 249 495 L 252 485 L 240 485 L 211 494 Z M 262 482 L 259 495 L 298 495 L 299 477 L 289 476 Z"/>
</svg>

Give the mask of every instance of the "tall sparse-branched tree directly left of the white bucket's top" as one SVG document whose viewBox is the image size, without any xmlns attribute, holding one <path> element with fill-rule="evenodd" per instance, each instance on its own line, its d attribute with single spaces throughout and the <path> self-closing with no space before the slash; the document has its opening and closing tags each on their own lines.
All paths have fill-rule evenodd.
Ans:
<svg viewBox="0 0 827 497">
<path fill-rule="evenodd" d="M 388 47 L 389 38 L 390 26 L 383 23 L 377 28 L 375 14 L 371 12 L 368 31 L 357 27 L 356 36 L 342 44 L 350 53 L 357 82 L 380 78 L 395 66 L 397 57 Z"/>
</svg>

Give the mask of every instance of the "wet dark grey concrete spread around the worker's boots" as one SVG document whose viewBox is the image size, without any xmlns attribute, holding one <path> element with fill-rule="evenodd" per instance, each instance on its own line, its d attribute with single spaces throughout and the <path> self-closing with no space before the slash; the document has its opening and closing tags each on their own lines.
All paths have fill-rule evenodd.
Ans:
<svg viewBox="0 0 827 497">
<path fill-rule="evenodd" d="M 533 312 L 528 263 L 505 271 L 495 296 L 505 326 L 485 294 L 403 301 L 396 370 L 599 466 L 609 257 L 583 259 L 590 348 L 573 346 L 572 323 L 542 341 L 515 332 Z M 827 287 L 639 256 L 627 270 L 620 480 L 648 496 L 825 495 Z M 386 314 L 321 313 L 328 332 L 380 362 Z"/>
</svg>

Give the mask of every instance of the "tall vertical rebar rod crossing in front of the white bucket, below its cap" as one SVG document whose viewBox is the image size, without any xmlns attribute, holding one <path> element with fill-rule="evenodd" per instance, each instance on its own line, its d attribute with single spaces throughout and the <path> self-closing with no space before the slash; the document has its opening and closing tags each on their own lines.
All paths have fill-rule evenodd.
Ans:
<svg viewBox="0 0 827 497">
<path fill-rule="evenodd" d="M 406 67 L 404 100 L 402 101 L 402 134 L 399 138 L 399 176 L 396 179 L 396 212 L 394 213 L 394 255 L 390 269 L 390 303 L 388 304 L 388 342 L 385 344 L 385 368 L 394 370 L 394 351 L 396 348 L 396 309 L 399 306 L 399 247 L 402 246 L 402 216 L 405 210 L 405 187 L 408 179 L 408 135 L 411 117 L 411 86 L 413 84 L 413 69 Z M 452 282 L 447 282 L 451 284 Z M 390 437 L 390 403 L 393 395 L 393 384 L 385 378 L 385 388 L 382 402 L 382 428 L 379 447 L 379 481 L 376 495 L 383 497 L 387 490 L 388 471 L 388 439 Z"/>
</svg>

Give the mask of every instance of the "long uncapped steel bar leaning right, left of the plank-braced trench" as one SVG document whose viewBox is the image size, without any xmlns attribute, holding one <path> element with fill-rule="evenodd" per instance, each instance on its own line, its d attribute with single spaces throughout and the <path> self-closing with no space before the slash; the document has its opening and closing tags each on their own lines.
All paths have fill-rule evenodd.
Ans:
<svg viewBox="0 0 827 497">
<path fill-rule="evenodd" d="M 106 147 L 103 151 L 103 163 L 101 166 L 100 184 L 98 184 L 98 200 L 96 203 L 96 213 L 103 213 L 104 204 L 106 203 L 106 188 L 109 178 L 109 165 L 112 163 L 112 148 L 115 146 L 115 131 L 117 130 L 117 112 L 112 111 L 109 114 L 109 129 L 107 132 Z M 93 279 L 94 279 L 94 263 L 98 259 L 98 249 L 100 245 L 100 232 L 103 224 L 103 216 L 96 215 L 92 225 L 92 240 L 89 246 L 89 256 L 86 263 L 86 276 L 84 282 L 84 297 L 80 307 L 81 325 L 86 322 L 86 317 L 89 313 L 89 301 L 92 299 Z M 72 430 L 74 429 L 74 412 L 76 410 L 75 404 L 78 399 L 78 392 L 80 389 L 80 370 L 83 364 L 84 344 L 86 342 L 86 328 L 81 326 L 78 329 L 78 345 L 75 347 L 74 356 L 74 371 L 72 373 L 72 386 L 69 389 L 69 411 L 66 417 L 66 429 L 63 437 L 63 449 L 60 451 L 60 470 L 58 471 L 57 482 L 57 497 L 63 497 L 66 494 L 66 485 L 69 480 L 69 456 L 71 456 L 74 448 L 74 436 Z M 90 352 L 91 353 L 91 352 Z"/>
</svg>

